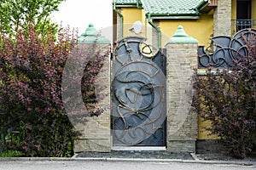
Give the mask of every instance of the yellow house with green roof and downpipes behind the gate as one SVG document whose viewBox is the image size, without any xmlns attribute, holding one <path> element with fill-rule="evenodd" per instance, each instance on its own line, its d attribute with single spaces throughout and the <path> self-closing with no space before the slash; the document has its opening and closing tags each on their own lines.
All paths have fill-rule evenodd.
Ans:
<svg viewBox="0 0 256 170">
<path fill-rule="evenodd" d="M 231 36 L 244 28 L 256 28 L 255 0 L 114 0 L 113 40 L 133 35 L 132 23 L 141 21 L 140 34 L 150 37 L 154 45 L 163 47 L 182 25 L 199 45 L 207 45 L 210 37 Z"/>
</svg>

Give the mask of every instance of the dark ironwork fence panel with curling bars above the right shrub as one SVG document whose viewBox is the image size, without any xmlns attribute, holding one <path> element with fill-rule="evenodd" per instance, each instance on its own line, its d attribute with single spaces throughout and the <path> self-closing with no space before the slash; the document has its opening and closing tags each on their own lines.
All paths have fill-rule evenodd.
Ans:
<svg viewBox="0 0 256 170">
<path fill-rule="evenodd" d="M 247 55 L 246 38 L 256 37 L 255 29 L 244 29 L 238 31 L 233 37 L 212 37 L 210 46 L 205 50 L 199 47 L 199 68 L 212 67 L 234 67 L 235 61 L 240 61 L 241 56 Z"/>
</svg>

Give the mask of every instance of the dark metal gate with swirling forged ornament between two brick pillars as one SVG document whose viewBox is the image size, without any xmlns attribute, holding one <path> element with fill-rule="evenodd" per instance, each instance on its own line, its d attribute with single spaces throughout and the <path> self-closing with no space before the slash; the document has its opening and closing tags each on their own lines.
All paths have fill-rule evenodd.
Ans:
<svg viewBox="0 0 256 170">
<path fill-rule="evenodd" d="M 166 58 L 144 37 L 113 54 L 113 146 L 166 146 Z"/>
</svg>

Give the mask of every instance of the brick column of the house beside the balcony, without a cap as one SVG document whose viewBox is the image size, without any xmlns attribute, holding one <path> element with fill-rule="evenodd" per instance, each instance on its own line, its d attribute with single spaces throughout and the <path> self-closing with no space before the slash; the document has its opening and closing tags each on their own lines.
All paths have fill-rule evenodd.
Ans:
<svg viewBox="0 0 256 170">
<path fill-rule="evenodd" d="M 231 35 L 231 0 L 218 0 L 213 14 L 213 36 Z"/>
</svg>

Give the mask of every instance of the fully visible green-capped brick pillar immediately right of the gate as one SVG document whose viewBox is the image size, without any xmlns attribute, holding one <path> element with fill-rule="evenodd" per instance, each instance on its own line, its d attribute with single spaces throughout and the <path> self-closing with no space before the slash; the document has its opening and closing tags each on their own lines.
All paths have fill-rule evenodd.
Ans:
<svg viewBox="0 0 256 170">
<path fill-rule="evenodd" d="M 189 29 L 189 28 L 188 28 Z M 191 108 L 198 42 L 182 26 L 166 43 L 167 150 L 195 152 L 197 114 Z"/>
</svg>

